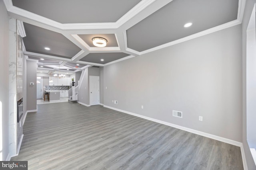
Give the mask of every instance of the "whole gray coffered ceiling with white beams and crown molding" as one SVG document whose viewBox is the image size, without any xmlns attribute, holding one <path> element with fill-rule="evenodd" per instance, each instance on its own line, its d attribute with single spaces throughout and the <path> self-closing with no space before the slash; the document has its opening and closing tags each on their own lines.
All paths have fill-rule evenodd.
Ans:
<svg viewBox="0 0 256 170">
<path fill-rule="evenodd" d="M 24 54 L 38 60 L 38 71 L 76 72 L 240 24 L 245 0 L 4 0 L 4 3 L 9 15 L 23 22 L 18 26 L 23 30 Z M 188 22 L 192 26 L 184 27 Z M 95 47 L 94 37 L 105 38 L 106 47 Z"/>
</svg>

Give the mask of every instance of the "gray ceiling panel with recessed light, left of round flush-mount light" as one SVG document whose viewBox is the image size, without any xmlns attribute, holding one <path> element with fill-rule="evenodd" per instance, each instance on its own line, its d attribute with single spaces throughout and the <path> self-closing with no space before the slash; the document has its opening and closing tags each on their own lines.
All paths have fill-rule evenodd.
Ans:
<svg viewBox="0 0 256 170">
<path fill-rule="evenodd" d="M 71 59 L 81 49 L 60 33 L 24 23 L 26 51 Z M 44 47 L 49 47 L 47 51 Z"/>
</svg>

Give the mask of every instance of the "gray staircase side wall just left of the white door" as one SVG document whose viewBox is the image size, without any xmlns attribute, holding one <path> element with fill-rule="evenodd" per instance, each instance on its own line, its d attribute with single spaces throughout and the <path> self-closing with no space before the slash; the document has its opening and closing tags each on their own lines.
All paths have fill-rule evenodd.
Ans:
<svg viewBox="0 0 256 170">
<path fill-rule="evenodd" d="M 90 96 L 89 96 L 89 85 L 88 85 L 88 68 L 84 70 L 84 78 L 79 83 L 81 84 L 81 86 L 78 92 L 78 102 L 82 102 L 83 104 L 89 105 Z"/>
</svg>

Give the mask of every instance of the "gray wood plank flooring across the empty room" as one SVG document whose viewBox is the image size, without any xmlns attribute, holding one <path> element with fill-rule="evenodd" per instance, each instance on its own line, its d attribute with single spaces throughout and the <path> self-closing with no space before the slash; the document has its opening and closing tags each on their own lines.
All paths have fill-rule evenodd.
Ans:
<svg viewBox="0 0 256 170">
<path fill-rule="evenodd" d="M 99 105 L 38 105 L 23 134 L 29 170 L 243 169 L 240 147 Z"/>
</svg>

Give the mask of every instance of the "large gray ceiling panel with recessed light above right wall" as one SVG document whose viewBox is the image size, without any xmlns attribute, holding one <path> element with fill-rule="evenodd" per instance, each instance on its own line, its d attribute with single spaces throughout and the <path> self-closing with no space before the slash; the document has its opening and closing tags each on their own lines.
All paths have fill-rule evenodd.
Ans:
<svg viewBox="0 0 256 170">
<path fill-rule="evenodd" d="M 237 13 L 238 0 L 173 0 L 126 31 L 128 48 L 144 51 L 236 20 Z"/>
</svg>

